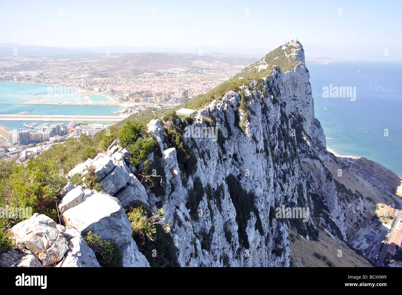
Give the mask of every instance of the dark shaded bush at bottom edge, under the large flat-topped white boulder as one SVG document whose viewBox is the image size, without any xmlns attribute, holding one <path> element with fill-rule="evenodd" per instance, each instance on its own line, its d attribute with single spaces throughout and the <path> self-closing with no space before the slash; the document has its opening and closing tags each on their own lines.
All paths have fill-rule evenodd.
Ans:
<svg viewBox="0 0 402 295">
<path fill-rule="evenodd" d="M 88 246 L 94 250 L 96 259 L 102 267 L 123 267 L 123 253 L 115 242 L 103 240 L 89 231 L 85 237 Z"/>
</svg>

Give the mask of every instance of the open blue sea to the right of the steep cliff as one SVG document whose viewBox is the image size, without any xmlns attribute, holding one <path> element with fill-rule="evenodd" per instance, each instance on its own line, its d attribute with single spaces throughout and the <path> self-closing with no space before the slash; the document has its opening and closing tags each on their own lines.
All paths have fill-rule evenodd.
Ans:
<svg viewBox="0 0 402 295">
<path fill-rule="evenodd" d="M 315 117 L 325 136 L 333 138 L 326 140 L 328 148 L 367 157 L 402 175 L 402 62 L 330 62 L 307 68 Z M 324 98 L 322 88 L 330 84 L 356 87 L 356 100 Z"/>
</svg>

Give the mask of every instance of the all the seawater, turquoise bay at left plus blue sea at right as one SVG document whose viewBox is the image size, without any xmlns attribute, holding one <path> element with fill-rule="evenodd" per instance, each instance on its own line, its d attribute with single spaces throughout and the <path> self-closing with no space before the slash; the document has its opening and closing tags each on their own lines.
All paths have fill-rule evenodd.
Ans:
<svg viewBox="0 0 402 295">
<path fill-rule="evenodd" d="M 306 66 L 310 72 L 315 117 L 328 138 L 327 147 L 340 155 L 366 157 L 402 176 L 402 93 L 399 87 L 402 62 L 344 61 Z M 351 87 L 354 97 L 325 97 L 324 87 Z M 53 87 L 51 91 L 74 94 L 62 99 L 84 99 L 74 89 L 60 91 Z M 46 95 L 48 92 L 49 85 L 0 82 L 0 125 L 24 128 L 25 122 L 1 120 L 1 114 L 22 111 L 32 110 L 29 114 L 112 115 L 119 110 L 115 106 L 13 104 L 38 99 L 32 93 Z M 61 98 L 57 99 L 60 101 Z M 91 99 L 102 100 L 102 96 Z"/>
</svg>

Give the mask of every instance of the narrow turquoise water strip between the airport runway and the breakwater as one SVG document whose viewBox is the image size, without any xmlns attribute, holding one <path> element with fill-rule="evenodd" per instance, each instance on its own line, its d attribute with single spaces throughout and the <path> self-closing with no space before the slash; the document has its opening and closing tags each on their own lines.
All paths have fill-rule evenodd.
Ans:
<svg viewBox="0 0 402 295">
<path fill-rule="evenodd" d="M 119 107 L 110 105 L 25 105 L 25 104 L 0 104 L 1 114 L 16 114 L 23 111 L 31 111 L 27 115 L 87 115 L 87 116 L 117 116 L 112 114 L 119 111 Z M 1 120 L 1 116 L 0 116 Z"/>
</svg>

